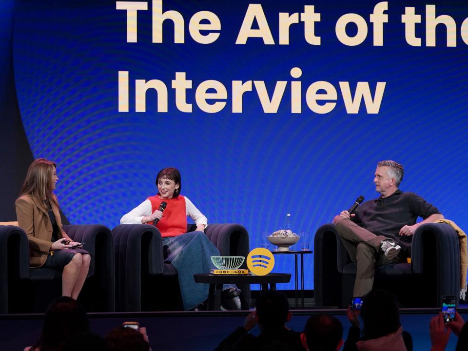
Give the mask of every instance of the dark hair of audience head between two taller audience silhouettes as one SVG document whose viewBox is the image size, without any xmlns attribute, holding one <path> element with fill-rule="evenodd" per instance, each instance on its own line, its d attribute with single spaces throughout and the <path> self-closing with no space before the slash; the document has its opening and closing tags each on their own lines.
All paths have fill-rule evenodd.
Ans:
<svg viewBox="0 0 468 351">
<path fill-rule="evenodd" d="M 334 351 L 343 337 L 343 325 L 328 314 L 312 315 L 304 329 L 309 350 Z"/>
</svg>

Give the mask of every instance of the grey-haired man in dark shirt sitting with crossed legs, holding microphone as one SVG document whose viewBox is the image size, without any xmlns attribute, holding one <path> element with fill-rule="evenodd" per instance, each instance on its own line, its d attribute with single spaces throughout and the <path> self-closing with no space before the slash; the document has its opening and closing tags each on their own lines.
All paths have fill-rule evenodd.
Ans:
<svg viewBox="0 0 468 351">
<path fill-rule="evenodd" d="M 354 296 L 365 296 L 372 290 L 376 265 L 409 257 L 412 235 L 421 224 L 444 218 L 421 196 L 399 190 L 402 179 L 401 164 L 378 162 L 374 184 L 380 197 L 364 202 L 351 215 L 343 211 L 333 219 L 351 260 L 357 264 Z M 416 223 L 418 217 L 424 220 Z"/>
</svg>

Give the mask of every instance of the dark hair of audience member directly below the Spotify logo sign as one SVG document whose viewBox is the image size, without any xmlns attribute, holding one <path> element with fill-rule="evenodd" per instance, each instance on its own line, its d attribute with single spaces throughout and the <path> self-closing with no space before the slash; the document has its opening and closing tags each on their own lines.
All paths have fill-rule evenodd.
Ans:
<svg viewBox="0 0 468 351">
<path fill-rule="evenodd" d="M 288 319 L 288 299 L 276 290 L 262 293 L 255 301 L 258 323 L 264 329 L 284 326 Z"/>
</svg>

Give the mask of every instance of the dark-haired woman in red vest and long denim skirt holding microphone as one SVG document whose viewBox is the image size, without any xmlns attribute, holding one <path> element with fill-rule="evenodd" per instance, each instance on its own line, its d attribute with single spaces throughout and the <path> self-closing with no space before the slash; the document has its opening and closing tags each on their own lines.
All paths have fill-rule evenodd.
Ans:
<svg viewBox="0 0 468 351">
<path fill-rule="evenodd" d="M 182 182 L 180 172 L 168 167 L 156 176 L 158 194 L 148 197 L 136 208 L 120 219 L 120 224 L 153 224 L 161 233 L 164 246 L 168 247 L 164 262 L 171 262 L 177 270 L 180 293 L 185 310 L 191 310 L 208 298 L 208 286 L 194 281 L 195 273 L 209 273 L 215 268 L 211 256 L 219 251 L 203 232 L 207 218 L 187 197 L 180 195 Z M 164 213 L 159 211 L 161 203 L 166 203 Z M 187 232 L 187 216 L 196 224 L 196 231 Z M 223 307 L 240 309 L 240 291 L 233 285 L 225 285 Z"/>
</svg>

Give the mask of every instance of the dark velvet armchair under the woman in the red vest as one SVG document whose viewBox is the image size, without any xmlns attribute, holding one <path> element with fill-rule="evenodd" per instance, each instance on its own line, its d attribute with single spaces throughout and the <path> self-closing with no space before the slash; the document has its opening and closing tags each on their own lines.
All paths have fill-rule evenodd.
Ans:
<svg viewBox="0 0 468 351">
<path fill-rule="evenodd" d="M 189 224 L 187 232 L 195 231 Z M 177 271 L 163 262 L 161 234 L 148 224 L 121 224 L 114 234 L 117 311 L 182 310 Z M 249 234 L 239 224 L 210 224 L 205 234 L 221 255 L 247 256 Z M 244 262 L 241 268 L 247 268 Z M 201 272 L 200 272 L 201 273 Z M 238 286 L 242 309 L 250 307 L 250 285 Z"/>
</svg>

